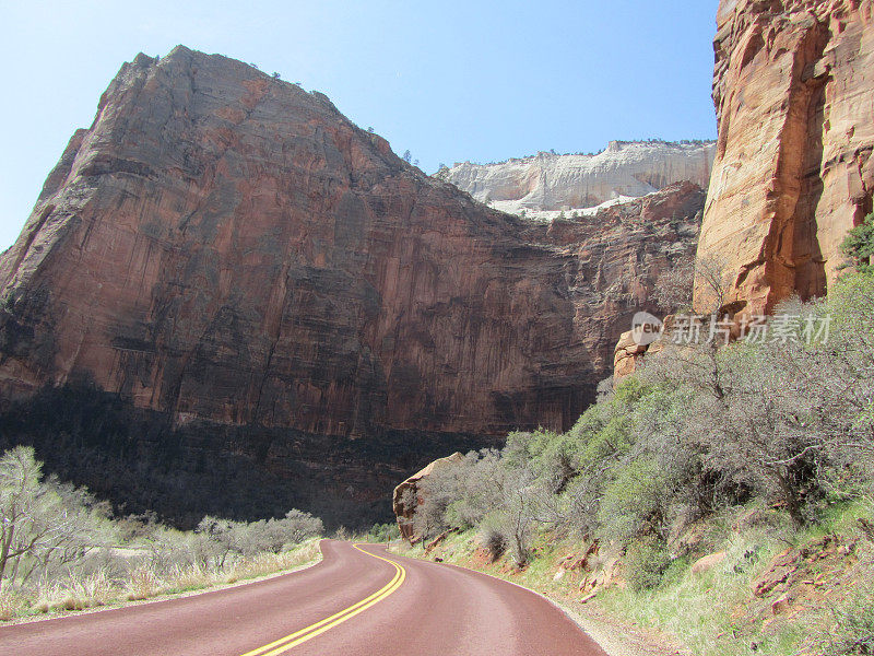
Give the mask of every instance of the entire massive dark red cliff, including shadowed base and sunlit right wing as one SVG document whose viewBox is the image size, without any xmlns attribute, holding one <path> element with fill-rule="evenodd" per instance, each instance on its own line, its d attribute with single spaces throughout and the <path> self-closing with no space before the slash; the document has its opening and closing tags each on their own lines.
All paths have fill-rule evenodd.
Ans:
<svg viewBox="0 0 874 656">
<path fill-rule="evenodd" d="M 140 55 L 0 257 L 0 433 L 42 440 L 59 468 L 78 458 L 56 443 L 109 449 L 143 507 L 176 468 L 224 488 L 215 472 L 239 481 L 240 458 L 252 494 L 259 472 L 285 481 L 270 503 L 330 488 L 375 504 L 439 454 L 569 427 L 701 204 L 681 185 L 525 222 L 406 165 L 321 94 L 184 47 Z M 80 482 L 113 496 L 87 467 Z M 258 500 L 235 513 L 263 514 Z M 374 507 L 358 520 L 389 515 Z"/>
</svg>

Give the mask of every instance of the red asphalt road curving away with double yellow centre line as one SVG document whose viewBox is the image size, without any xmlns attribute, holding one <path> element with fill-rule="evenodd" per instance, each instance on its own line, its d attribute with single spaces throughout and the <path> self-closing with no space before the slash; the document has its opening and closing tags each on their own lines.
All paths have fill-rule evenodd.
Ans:
<svg viewBox="0 0 874 656">
<path fill-rule="evenodd" d="M 606 656 L 546 599 L 469 570 L 368 553 L 405 570 L 393 593 L 290 656 Z M 324 540 L 312 567 L 234 588 L 0 628 L 2 656 L 241 656 L 382 589 L 398 570 Z"/>
</svg>

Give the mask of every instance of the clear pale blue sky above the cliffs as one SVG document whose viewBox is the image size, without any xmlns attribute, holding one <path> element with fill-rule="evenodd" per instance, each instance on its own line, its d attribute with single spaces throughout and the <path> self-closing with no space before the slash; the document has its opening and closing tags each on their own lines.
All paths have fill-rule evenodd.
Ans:
<svg viewBox="0 0 874 656">
<path fill-rule="evenodd" d="M 173 46 L 326 93 L 428 173 L 711 139 L 716 0 L 0 0 L 0 250 L 123 61 Z"/>
</svg>

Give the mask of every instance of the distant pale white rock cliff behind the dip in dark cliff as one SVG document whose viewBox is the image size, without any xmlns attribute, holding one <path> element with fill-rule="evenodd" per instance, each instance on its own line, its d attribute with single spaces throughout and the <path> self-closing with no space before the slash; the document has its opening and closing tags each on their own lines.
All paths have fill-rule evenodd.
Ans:
<svg viewBox="0 0 874 656">
<path fill-rule="evenodd" d="M 456 164 L 444 179 L 476 200 L 529 216 L 638 198 L 680 181 L 707 188 L 712 142 L 612 141 L 595 155 L 539 153 L 498 164 Z"/>
</svg>

